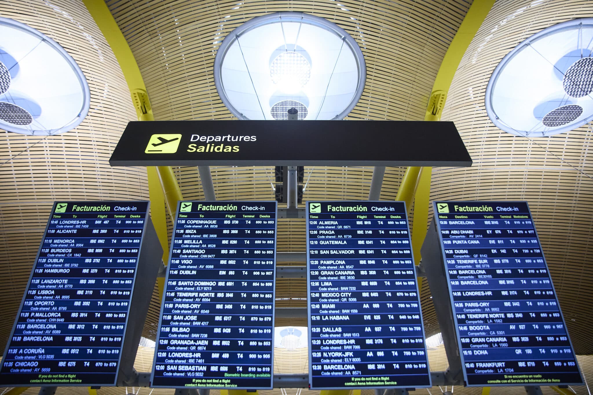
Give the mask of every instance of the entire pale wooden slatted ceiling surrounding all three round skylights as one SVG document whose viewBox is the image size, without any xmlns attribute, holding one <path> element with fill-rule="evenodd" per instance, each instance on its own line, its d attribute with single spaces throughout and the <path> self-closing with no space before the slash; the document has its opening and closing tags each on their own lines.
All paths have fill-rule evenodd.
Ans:
<svg viewBox="0 0 593 395">
<path fill-rule="evenodd" d="M 423 120 L 436 73 L 471 5 L 470 0 L 106 3 L 141 70 L 155 120 L 236 119 L 215 88 L 216 50 L 238 25 L 277 11 L 300 11 L 327 18 L 344 28 L 361 47 L 366 85 L 362 98 L 345 120 Z M 4 349 L 53 201 L 148 200 L 149 191 L 145 168 L 111 168 L 107 163 L 127 122 L 137 118 L 113 50 L 83 2 L 0 1 L 0 17 L 28 24 L 58 41 L 84 72 L 91 94 L 87 117 L 67 133 L 23 136 L 0 130 L 0 277 L 4 280 L 0 285 L 0 349 Z M 495 2 L 457 68 L 441 118 L 454 121 L 474 163 L 471 168 L 433 169 L 431 200 L 528 201 L 581 369 L 589 380 L 593 377 L 591 124 L 551 137 L 514 136 L 498 129 L 484 107 L 490 75 L 508 52 L 543 28 L 582 17 L 593 17 L 593 2 Z M 339 149 L 337 123 L 335 131 Z M 298 136 L 294 138 L 298 140 Z M 372 171 L 372 167 L 305 167 L 307 187 L 303 200 L 366 200 Z M 211 167 L 211 172 L 218 200 L 274 198 L 271 167 L 218 166 Z M 387 168 L 381 200 L 394 200 L 404 172 L 404 168 Z M 174 168 L 174 174 L 184 199 L 203 199 L 197 168 Z M 412 209 L 412 226 L 426 226 L 416 223 L 413 213 Z M 305 221 L 279 220 L 278 252 L 304 252 L 305 247 Z M 305 307 L 306 290 L 304 279 L 279 279 L 276 306 Z M 422 285 L 422 306 L 426 336 L 435 335 L 439 327 L 426 281 Z M 155 290 L 145 324 L 146 338 L 155 338 L 159 310 L 160 297 Z M 278 319 L 276 325 L 306 326 L 307 320 Z M 150 370 L 151 352 L 150 348 L 140 349 L 136 365 L 139 371 Z M 442 346 L 432 350 L 430 357 L 432 370 L 447 367 Z M 304 351 L 279 352 L 275 371 L 303 372 L 306 358 Z M 543 389 L 544 393 L 554 393 L 550 388 Z M 585 387 L 574 389 L 578 394 L 588 393 Z M 431 389 L 433 394 L 439 391 L 438 387 Z M 31 389 L 26 393 L 35 392 Z M 60 388 L 59 393 L 86 390 Z M 101 388 L 98 393 L 126 392 L 124 388 Z M 141 393 L 149 391 L 144 388 Z M 155 395 L 161 393 L 173 391 L 154 391 Z M 481 391 L 455 387 L 454 393 Z M 499 387 L 492 388 L 491 393 L 519 394 L 524 390 Z"/>
</svg>

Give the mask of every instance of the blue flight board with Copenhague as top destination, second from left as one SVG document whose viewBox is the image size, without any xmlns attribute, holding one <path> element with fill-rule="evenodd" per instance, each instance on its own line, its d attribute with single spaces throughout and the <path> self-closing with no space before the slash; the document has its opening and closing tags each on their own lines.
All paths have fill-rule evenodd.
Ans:
<svg viewBox="0 0 593 395">
<path fill-rule="evenodd" d="M 275 201 L 181 201 L 152 387 L 272 388 Z"/>
</svg>

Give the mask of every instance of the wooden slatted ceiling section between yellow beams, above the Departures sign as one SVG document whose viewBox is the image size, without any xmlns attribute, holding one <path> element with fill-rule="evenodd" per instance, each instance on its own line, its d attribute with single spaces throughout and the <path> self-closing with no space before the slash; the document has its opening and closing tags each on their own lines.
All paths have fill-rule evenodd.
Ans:
<svg viewBox="0 0 593 395">
<path fill-rule="evenodd" d="M 353 36 L 368 69 L 349 118 L 422 119 L 436 71 L 469 2 L 107 1 L 138 60 L 155 118 L 232 118 L 212 78 L 222 38 L 276 11 L 308 12 Z M 435 31 L 438 33 L 435 34 Z"/>
</svg>

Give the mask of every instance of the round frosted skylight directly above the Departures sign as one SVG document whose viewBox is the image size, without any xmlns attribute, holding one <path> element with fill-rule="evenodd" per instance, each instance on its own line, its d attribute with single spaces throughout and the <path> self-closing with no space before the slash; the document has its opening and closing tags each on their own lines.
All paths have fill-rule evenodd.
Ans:
<svg viewBox="0 0 593 395">
<path fill-rule="evenodd" d="M 222 41 L 214 81 L 242 120 L 339 120 L 362 95 L 366 66 L 356 41 L 338 25 L 302 12 L 256 17 Z"/>
</svg>

